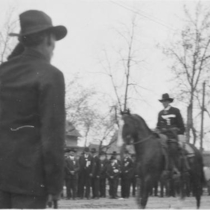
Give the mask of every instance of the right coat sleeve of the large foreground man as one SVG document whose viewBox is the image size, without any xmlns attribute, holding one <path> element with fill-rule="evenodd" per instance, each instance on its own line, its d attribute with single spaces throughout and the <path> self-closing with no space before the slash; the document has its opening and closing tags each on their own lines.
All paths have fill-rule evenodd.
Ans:
<svg viewBox="0 0 210 210">
<path fill-rule="evenodd" d="M 64 77 L 59 70 L 50 69 L 50 71 L 42 75 L 40 81 L 40 137 L 45 184 L 47 193 L 57 194 L 62 190 L 64 171 Z"/>
</svg>

